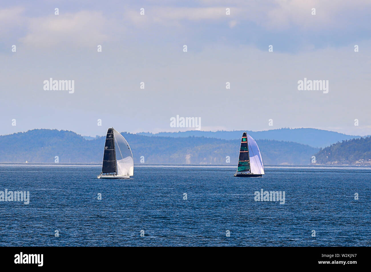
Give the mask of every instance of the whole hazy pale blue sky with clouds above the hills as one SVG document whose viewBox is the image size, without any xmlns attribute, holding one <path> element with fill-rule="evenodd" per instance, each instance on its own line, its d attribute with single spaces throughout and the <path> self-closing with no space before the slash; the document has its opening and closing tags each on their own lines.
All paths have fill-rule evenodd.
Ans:
<svg viewBox="0 0 371 272">
<path fill-rule="evenodd" d="M 59 2 L 1 3 L 1 135 L 188 130 L 176 115 L 201 130 L 371 134 L 369 0 Z M 43 90 L 49 78 L 75 92 Z M 299 91 L 304 78 L 329 92 Z"/>
</svg>

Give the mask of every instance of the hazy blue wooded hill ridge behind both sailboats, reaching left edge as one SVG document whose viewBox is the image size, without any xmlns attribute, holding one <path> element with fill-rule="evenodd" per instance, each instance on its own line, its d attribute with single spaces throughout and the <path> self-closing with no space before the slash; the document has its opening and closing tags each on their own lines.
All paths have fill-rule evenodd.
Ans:
<svg viewBox="0 0 371 272">
<path fill-rule="evenodd" d="M 148 137 L 122 132 L 139 164 L 237 165 L 240 139 Z M 242 135 L 242 134 L 241 134 Z M 257 140 L 265 165 L 308 165 L 319 148 L 296 142 Z M 73 131 L 35 129 L 0 136 L 0 162 L 96 162 L 101 164 L 105 136 L 86 140 Z M 228 157 L 230 163 L 228 163 Z"/>
</svg>

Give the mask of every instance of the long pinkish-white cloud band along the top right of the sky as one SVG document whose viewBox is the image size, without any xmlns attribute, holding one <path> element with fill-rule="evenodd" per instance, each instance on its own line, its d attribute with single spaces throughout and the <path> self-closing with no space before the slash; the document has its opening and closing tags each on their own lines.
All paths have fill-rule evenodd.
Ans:
<svg viewBox="0 0 371 272">
<path fill-rule="evenodd" d="M 145 16 L 139 10 L 125 13 L 125 17 L 135 25 L 160 23 L 167 26 L 180 26 L 182 21 L 207 21 L 214 23 L 220 20 L 238 20 L 253 22 L 268 30 L 286 30 L 288 28 L 317 29 L 321 31 L 340 29 L 349 25 L 357 25 L 360 18 L 370 13 L 371 1 L 346 0 L 267 0 L 267 1 L 200 1 L 194 7 L 149 6 Z M 206 6 L 207 5 L 207 6 Z M 226 8 L 230 8 L 230 16 L 226 16 Z M 316 15 L 312 15 L 312 8 Z M 229 26 L 233 27 L 230 22 Z"/>
</svg>

